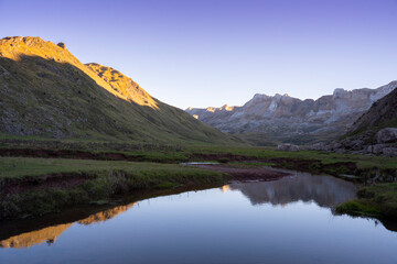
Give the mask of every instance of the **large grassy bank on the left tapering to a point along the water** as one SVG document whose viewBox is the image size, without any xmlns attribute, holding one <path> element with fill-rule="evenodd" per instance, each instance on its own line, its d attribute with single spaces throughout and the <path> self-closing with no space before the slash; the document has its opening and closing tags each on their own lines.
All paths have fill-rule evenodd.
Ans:
<svg viewBox="0 0 397 264">
<path fill-rule="evenodd" d="M 176 164 L 63 158 L 0 157 L 0 220 L 104 204 L 136 189 L 222 185 L 226 180 L 224 174 Z"/>
</svg>

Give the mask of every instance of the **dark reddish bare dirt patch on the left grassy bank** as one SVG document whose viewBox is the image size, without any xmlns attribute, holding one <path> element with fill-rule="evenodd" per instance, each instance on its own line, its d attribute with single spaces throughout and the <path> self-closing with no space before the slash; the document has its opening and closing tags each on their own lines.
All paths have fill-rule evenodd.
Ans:
<svg viewBox="0 0 397 264">
<path fill-rule="evenodd" d="M 92 176 L 85 174 L 50 174 L 36 177 L 7 178 L 1 183 L 1 196 L 45 188 L 64 189 L 78 186 Z"/>
</svg>

